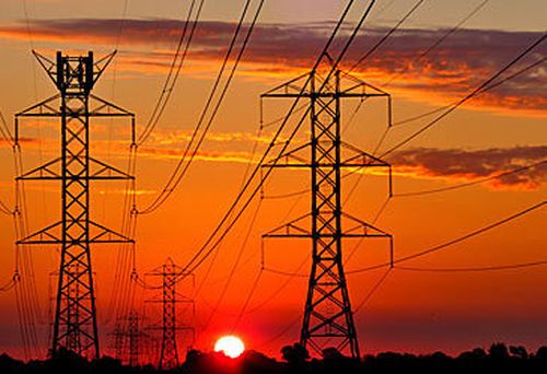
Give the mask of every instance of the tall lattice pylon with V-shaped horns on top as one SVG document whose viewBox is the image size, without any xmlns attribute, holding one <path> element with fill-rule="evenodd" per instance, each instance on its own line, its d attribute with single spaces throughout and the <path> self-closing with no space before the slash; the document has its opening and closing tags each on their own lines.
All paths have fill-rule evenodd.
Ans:
<svg viewBox="0 0 547 374">
<path fill-rule="evenodd" d="M 18 244 L 60 245 L 59 280 L 51 354 L 67 349 L 88 358 L 100 357 L 95 292 L 91 260 L 92 244 L 132 243 L 90 218 L 90 183 L 92 180 L 132 179 L 90 155 L 90 119 L 128 117 L 135 142 L 135 115 L 92 94 L 93 87 L 112 61 L 115 52 L 94 61 L 86 56 L 63 56 L 56 61 L 33 51 L 51 79 L 56 95 L 15 115 L 15 139 L 22 117 L 60 118 L 61 155 L 45 165 L 18 176 L 21 180 L 60 180 L 61 220 Z"/>
</svg>

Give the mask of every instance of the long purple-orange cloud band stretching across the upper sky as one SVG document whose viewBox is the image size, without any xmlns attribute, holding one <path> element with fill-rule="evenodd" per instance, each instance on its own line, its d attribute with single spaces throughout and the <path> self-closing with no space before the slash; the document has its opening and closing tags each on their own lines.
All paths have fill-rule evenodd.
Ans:
<svg viewBox="0 0 547 374">
<path fill-rule="evenodd" d="M 37 40 L 79 46 L 112 46 L 119 38 L 124 52 L 119 57 L 118 69 L 163 73 L 171 65 L 172 48 L 183 25 L 181 21 L 165 19 L 35 20 L 32 22 L 32 30 Z M 216 69 L 234 27 L 231 22 L 201 21 L 189 55 L 191 63 L 186 73 L 202 74 L 203 71 Z M 330 22 L 258 24 L 240 73 L 261 79 L 280 79 L 304 71 L 323 48 L 331 27 Z M 360 34 L 345 60 L 345 68 L 352 67 L 386 31 L 383 27 L 372 27 Z M 433 104 L 446 103 L 477 86 L 542 34 L 462 30 L 446 38 L 429 56 L 416 60 L 444 32 L 399 30 L 365 63 L 357 67 L 354 73 L 408 98 Z M 0 26 L 0 37 L 26 39 L 26 25 L 21 22 Z M 342 38 L 337 39 L 334 49 L 339 49 L 342 43 Z M 520 67 L 515 67 L 515 70 L 545 55 L 547 45 L 544 44 L 522 61 Z M 505 113 L 519 110 L 525 115 L 545 115 L 547 97 L 543 89 L 546 85 L 547 69 L 540 65 L 478 96 L 472 105 Z"/>
</svg>

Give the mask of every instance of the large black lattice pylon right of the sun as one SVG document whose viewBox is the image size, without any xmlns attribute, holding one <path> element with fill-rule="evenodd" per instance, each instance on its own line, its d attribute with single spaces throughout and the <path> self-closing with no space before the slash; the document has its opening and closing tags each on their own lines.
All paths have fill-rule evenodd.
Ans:
<svg viewBox="0 0 547 374">
<path fill-rule="evenodd" d="M 341 101 L 351 97 L 385 97 L 389 114 L 389 95 L 341 71 L 334 71 L 326 78 L 312 71 L 268 91 L 261 97 L 310 100 L 310 142 L 295 147 L 264 165 L 307 168 L 311 172 L 311 212 L 263 235 L 312 239 L 312 269 L 301 344 L 311 347 L 318 353 L 327 347 L 335 347 L 340 352 L 349 351 L 350 357 L 359 358 L 359 343 L 344 271 L 342 239 L 385 237 L 392 243 L 392 236 L 344 212 L 342 171 L 386 167 L 389 171 L 391 194 L 391 165 L 341 139 Z M 391 115 L 388 117 L 391 119 Z"/>
</svg>

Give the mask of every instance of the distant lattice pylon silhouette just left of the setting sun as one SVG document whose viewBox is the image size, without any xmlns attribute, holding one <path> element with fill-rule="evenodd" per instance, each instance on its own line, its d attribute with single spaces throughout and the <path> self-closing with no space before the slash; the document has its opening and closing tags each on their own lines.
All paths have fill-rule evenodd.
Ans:
<svg viewBox="0 0 547 374">
<path fill-rule="evenodd" d="M 194 278 L 191 274 L 185 273 L 183 268 L 175 265 L 171 258 L 167 258 L 164 265 L 155 268 L 151 272 L 148 272 L 147 276 L 161 277 L 162 279 L 162 285 L 159 288 L 161 289 L 161 296 L 148 300 L 149 303 L 160 303 L 162 305 L 161 324 L 159 326 L 149 327 L 149 329 L 160 330 L 162 332 L 158 367 L 160 370 L 173 370 L 179 365 L 177 331 L 190 331 L 191 341 L 194 342 L 195 339 L 194 327 L 188 324 L 184 325 L 177 322 L 179 311 L 177 311 L 176 307 L 179 303 L 189 304 L 191 307 L 191 315 L 194 316 L 194 300 L 178 294 L 176 292 L 176 285 L 178 282 L 184 281 L 187 278 Z"/>
</svg>

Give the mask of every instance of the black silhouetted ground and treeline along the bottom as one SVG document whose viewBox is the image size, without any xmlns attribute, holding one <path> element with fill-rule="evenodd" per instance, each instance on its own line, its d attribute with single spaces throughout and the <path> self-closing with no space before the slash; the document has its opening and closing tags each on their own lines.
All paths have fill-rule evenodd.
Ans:
<svg viewBox="0 0 547 374">
<path fill-rule="evenodd" d="M 342 357 L 336 349 L 325 350 L 322 360 L 310 359 L 300 346 L 281 350 L 282 361 L 247 351 L 236 360 L 220 353 L 189 351 L 174 373 L 547 373 L 547 347 L 529 353 L 523 347 L 496 343 L 488 351 L 477 348 L 457 357 L 442 352 L 427 355 L 385 352 L 365 355 L 361 361 Z M 0 355 L 0 373 L 160 373 L 151 365 L 130 367 L 104 357 L 89 362 L 71 353 L 59 352 L 45 361 L 24 363 Z"/>
</svg>

